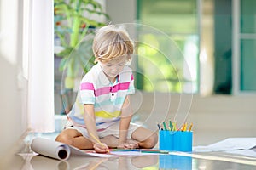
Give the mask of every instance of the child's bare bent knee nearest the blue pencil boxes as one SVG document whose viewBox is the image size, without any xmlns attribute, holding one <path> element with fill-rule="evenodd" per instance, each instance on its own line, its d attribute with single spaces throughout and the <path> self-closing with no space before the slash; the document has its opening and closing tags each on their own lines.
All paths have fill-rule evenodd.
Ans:
<svg viewBox="0 0 256 170">
<path fill-rule="evenodd" d="M 137 140 L 140 148 L 153 148 L 158 142 L 157 133 L 144 127 L 137 127 L 137 129 L 131 134 L 131 139 Z"/>
</svg>

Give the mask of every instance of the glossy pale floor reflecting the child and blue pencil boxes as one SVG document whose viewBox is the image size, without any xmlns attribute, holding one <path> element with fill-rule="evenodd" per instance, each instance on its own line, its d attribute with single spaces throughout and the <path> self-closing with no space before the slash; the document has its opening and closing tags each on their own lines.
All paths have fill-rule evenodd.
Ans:
<svg viewBox="0 0 256 170">
<path fill-rule="evenodd" d="M 61 126 L 63 122 L 58 122 Z M 57 129 L 60 131 L 60 129 Z M 216 155 L 208 153 L 203 158 L 189 156 L 121 156 L 115 158 L 96 158 L 71 156 L 67 161 L 58 161 L 45 156 L 38 156 L 30 149 L 33 138 L 55 139 L 58 133 L 31 133 L 24 139 L 24 149 L 18 154 L 6 158 L 8 167 L 3 169 L 38 170 L 38 169 L 256 169 L 256 158 Z M 195 129 L 193 145 L 207 145 L 227 138 L 255 137 L 253 131 L 218 131 Z M 155 146 L 158 148 L 158 144 Z M 223 160 L 222 160 L 223 159 Z M 0 165 L 1 167 L 1 165 Z"/>
</svg>

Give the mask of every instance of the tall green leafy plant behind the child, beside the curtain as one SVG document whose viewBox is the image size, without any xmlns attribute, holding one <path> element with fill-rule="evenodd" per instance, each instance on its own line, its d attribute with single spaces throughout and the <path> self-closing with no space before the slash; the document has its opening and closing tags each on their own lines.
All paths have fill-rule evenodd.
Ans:
<svg viewBox="0 0 256 170">
<path fill-rule="evenodd" d="M 81 76 L 81 70 L 87 72 L 94 65 L 91 49 L 94 29 L 105 26 L 109 17 L 96 0 L 55 0 L 54 9 L 55 37 L 61 46 L 56 56 L 61 57 L 59 70 L 66 72 L 62 88 L 77 90 L 75 82 Z M 104 21 L 99 20 L 102 18 Z M 70 102 L 66 103 L 67 112 Z"/>
</svg>

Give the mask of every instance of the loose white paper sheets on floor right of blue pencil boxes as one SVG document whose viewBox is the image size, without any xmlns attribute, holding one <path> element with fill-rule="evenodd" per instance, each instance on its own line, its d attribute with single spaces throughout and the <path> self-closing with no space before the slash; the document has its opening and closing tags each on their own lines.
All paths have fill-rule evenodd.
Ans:
<svg viewBox="0 0 256 170">
<path fill-rule="evenodd" d="M 230 138 L 207 146 L 195 146 L 194 152 L 250 150 L 256 146 L 256 138 Z"/>
</svg>

